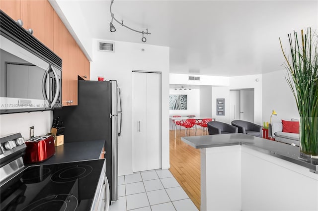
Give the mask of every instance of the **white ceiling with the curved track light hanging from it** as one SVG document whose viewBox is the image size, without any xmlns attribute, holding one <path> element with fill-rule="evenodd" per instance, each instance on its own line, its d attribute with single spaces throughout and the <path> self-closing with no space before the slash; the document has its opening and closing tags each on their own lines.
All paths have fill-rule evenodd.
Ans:
<svg viewBox="0 0 318 211">
<path fill-rule="evenodd" d="M 142 43 L 142 34 L 115 21 L 116 32 L 109 31 L 109 0 L 78 2 L 93 38 Z M 148 28 L 146 44 L 170 47 L 170 73 L 238 76 L 280 70 L 279 37 L 287 49 L 288 33 L 318 29 L 317 0 L 114 0 L 112 12 L 131 28 Z"/>
</svg>

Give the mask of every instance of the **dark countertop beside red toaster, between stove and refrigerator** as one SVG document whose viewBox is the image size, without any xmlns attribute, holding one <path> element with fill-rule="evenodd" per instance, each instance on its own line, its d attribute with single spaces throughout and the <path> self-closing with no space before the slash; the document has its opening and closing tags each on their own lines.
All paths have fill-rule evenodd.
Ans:
<svg viewBox="0 0 318 211">
<path fill-rule="evenodd" d="M 39 164 L 55 164 L 80 160 L 98 159 L 104 147 L 104 140 L 70 142 L 55 147 L 55 154 Z"/>
</svg>

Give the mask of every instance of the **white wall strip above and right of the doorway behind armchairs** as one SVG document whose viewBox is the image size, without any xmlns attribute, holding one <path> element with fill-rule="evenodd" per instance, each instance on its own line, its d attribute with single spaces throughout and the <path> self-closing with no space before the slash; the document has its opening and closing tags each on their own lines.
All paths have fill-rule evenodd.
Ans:
<svg viewBox="0 0 318 211">
<path fill-rule="evenodd" d="M 250 88 L 254 88 L 254 123 L 262 124 L 262 75 L 230 77 L 230 89 Z"/>
</svg>

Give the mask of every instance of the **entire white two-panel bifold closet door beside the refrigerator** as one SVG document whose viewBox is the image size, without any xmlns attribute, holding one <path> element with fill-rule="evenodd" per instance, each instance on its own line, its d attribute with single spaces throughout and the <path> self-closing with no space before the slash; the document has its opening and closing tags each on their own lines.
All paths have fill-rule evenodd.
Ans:
<svg viewBox="0 0 318 211">
<path fill-rule="evenodd" d="M 161 75 L 133 72 L 133 171 L 161 168 Z"/>
</svg>

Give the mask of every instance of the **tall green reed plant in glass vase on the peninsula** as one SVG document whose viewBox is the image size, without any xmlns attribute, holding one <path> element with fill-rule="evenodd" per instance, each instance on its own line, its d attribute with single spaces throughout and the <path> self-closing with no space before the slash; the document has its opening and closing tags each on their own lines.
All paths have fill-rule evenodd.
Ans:
<svg viewBox="0 0 318 211">
<path fill-rule="evenodd" d="M 318 156 L 318 36 L 311 28 L 288 35 L 290 56 L 280 46 L 285 57 L 287 83 L 296 100 L 300 122 L 300 148 L 307 155 Z"/>
</svg>

